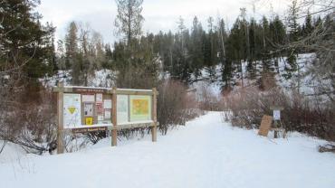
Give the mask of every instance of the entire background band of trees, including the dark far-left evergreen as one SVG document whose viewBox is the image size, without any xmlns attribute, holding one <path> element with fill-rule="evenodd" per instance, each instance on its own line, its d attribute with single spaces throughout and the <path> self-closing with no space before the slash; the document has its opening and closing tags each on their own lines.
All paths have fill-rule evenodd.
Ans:
<svg viewBox="0 0 335 188">
<path fill-rule="evenodd" d="M 74 21 L 68 25 L 65 37 L 54 42 L 56 28 L 41 24 L 42 15 L 34 12 L 38 1 L 2 1 L 6 8 L 1 10 L 1 69 L 8 72 L 6 76 L 20 70 L 24 81 L 15 84 L 29 85 L 30 89 L 39 87 L 38 79 L 57 71 L 69 71 L 73 85 L 87 86 L 95 71 L 105 69 L 114 73 L 110 80 L 118 87 L 151 88 L 162 78 L 170 78 L 186 86 L 198 80 L 219 82 L 223 91 L 229 91 L 236 85 L 244 87 L 245 79 L 262 83 L 269 75 L 279 73 L 278 61 L 282 57 L 287 57 L 284 76 L 290 79 L 292 72 L 299 71 L 297 54 L 315 51 L 289 45 L 333 22 L 330 14 L 323 19 L 309 12 L 302 22 L 297 1 L 292 1 L 285 20 L 276 14 L 259 20 L 248 18 L 246 9 L 241 8 L 230 28 L 219 16 L 208 17 L 206 27 L 195 16 L 191 28 L 179 17 L 175 33 L 142 33 L 143 1 L 116 2 L 118 16 L 114 24 L 123 38 L 110 44 L 104 43 L 101 34 L 89 24 Z M 313 41 L 304 43 L 311 45 Z"/>
</svg>

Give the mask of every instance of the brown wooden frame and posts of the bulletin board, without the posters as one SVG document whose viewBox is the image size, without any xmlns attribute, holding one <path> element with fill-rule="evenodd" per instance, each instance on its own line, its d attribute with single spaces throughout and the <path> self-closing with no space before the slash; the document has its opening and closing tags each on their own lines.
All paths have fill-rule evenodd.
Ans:
<svg viewBox="0 0 335 188">
<path fill-rule="evenodd" d="M 64 152 L 63 146 L 63 135 L 65 133 L 71 132 L 68 131 L 69 128 L 64 129 L 63 125 L 63 94 L 64 93 L 76 93 L 76 94 L 96 94 L 102 93 L 106 96 L 110 96 L 106 99 L 111 99 L 111 124 L 104 125 L 96 125 L 93 127 L 75 127 L 71 128 L 73 133 L 83 133 L 86 131 L 99 131 L 99 130 L 111 130 L 111 146 L 117 146 L 117 137 L 118 137 L 118 130 L 127 129 L 127 128 L 136 128 L 136 127 L 151 127 L 151 136 L 152 142 L 157 141 L 157 127 L 159 123 L 157 122 L 157 96 L 158 91 L 157 89 L 107 89 L 107 88 L 93 88 L 93 87 L 68 87 L 64 86 L 62 82 L 58 84 L 57 87 L 53 88 L 53 92 L 57 93 L 57 123 L 58 123 L 58 131 L 57 131 L 57 154 L 62 154 Z M 122 123 L 118 125 L 117 119 L 117 95 L 144 95 L 144 96 L 151 96 L 151 119 L 149 121 L 140 121 L 140 122 L 129 122 L 129 123 Z M 105 99 L 105 98 L 103 98 Z M 81 102 L 81 104 L 83 104 Z M 82 107 L 81 107 L 82 110 Z M 94 109 L 95 110 L 95 109 Z M 130 110 L 130 109 L 129 109 Z M 96 114 L 94 112 L 94 114 Z M 82 122 L 82 116 L 81 116 Z M 97 122 L 96 120 L 94 122 Z"/>
</svg>

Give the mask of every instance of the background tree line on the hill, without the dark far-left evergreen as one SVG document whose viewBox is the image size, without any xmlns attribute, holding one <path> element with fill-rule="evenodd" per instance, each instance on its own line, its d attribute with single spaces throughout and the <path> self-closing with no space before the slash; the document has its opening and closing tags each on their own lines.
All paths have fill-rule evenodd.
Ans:
<svg viewBox="0 0 335 188">
<path fill-rule="evenodd" d="M 72 22 L 65 38 L 58 42 L 57 64 L 59 69 L 72 70 L 72 83 L 77 85 L 85 85 L 90 72 L 110 69 L 119 72 L 116 82 L 120 87 L 152 87 L 157 84 L 158 75 L 164 74 L 186 85 L 197 80 L 219 81 L 223 90 L 229 90 L 236 84 L 244 86 L 244 79 L 253 80 L 273 71 L 273 67 L 278 69 L 278 59 L 288 57 L 285 75 L 290 78 L 292 71 L 298 69 L 297 54 L 308 51 L 282 50 L 283 47 L 322 25 L 321 17 L 311 14 L 299 24 L 294 2 L 284 21 L 279 15 L 263 16 L 256 21 L 254 17 L 247 18 L 246 9 L 241 8 L 231 28 L 225 26 L 223 18 L 208 17 L 204 29 L 196 16 L 192 27 L 187 28 L 180 17 L 176 33 L 143 34 L 140 28 L 122 27 L 116 19 L 115 25 L 120 26 L 118 32 L 124 34 L 124 39 L 112 45 L 103 44 L 99 33 Z M 140 12 L 138 20 L 140 27 Z M 247 75 L 243 75 L 243 62 L 247 62 Z M 148 79 L 149 84 L 131 79 L 137 77 Z"/>
</svg>

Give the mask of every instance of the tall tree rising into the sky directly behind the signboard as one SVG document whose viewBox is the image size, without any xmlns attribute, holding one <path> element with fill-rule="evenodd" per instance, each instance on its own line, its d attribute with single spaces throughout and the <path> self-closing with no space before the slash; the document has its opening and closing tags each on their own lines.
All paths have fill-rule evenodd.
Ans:
<svg viewBox="0 0 335 188">
<path fill-rule="evenodd" d="M 116 0 L 118 14 L 115 26 L 126 42 L 114 45 L 120 88 L 152 88 L 158 80 L 158 55 L 154 54 L 152 36 L 143 36 L 143 0 Z"/>
</svg>

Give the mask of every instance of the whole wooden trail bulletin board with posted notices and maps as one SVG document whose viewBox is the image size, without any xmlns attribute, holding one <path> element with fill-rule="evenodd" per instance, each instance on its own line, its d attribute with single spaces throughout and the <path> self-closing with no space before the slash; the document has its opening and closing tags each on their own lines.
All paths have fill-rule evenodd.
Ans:
<svg viewBox="0 0 335 188">
<path fill-rule="evenodd" d="M 150 127 L 157 140 L 157 89 L 109 89 L 64 86 L 57 92 L 57 153 L 64 152 L 63 134 L 111 131 L 111 146 L 117 145 L 118 131 Z M 106 132 L 107 133 L 107 132 Z"/>
</svg>

